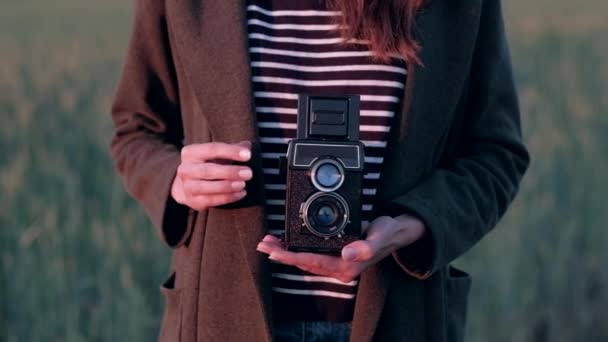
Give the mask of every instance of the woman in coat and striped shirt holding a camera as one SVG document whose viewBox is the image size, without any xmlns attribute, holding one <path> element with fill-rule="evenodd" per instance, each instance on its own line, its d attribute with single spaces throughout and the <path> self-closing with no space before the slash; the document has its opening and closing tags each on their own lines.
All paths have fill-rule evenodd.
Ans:
<svg viewBox="0 0 608 342">
<path fill-rule="evenodd" d="M 528 163 L 499 0 L 138 0 L 112 157 L 172 248 L 162 341 L 461 341 L 449 263 Z M 416 30 L 414 30 L 416 28 Z M 278 238 L 297 94 L 361 96 L 365 239 Z"/>
</svg>

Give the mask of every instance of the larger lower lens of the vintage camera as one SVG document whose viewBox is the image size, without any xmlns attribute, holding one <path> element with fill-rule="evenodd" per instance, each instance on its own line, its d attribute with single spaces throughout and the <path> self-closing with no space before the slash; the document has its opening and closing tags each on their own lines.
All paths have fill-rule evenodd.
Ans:
<svg viewBox="0 0 608 342">
<path fill-rule="evenodd" d="M 302 208 L 304 225 L 313 234 L 322 237 L 342 233 L 350 216 L 346 200 L 335 193 L 315 193 Z"/>
</svg>

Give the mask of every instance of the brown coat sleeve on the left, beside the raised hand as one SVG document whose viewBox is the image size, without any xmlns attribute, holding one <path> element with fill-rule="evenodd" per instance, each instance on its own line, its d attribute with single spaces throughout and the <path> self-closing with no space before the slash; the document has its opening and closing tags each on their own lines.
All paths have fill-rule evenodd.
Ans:
<svg viewBox="0 0 608 342">
<path fill-rule="evenodd" d="M 170 196 L 183 128 L 162 0 L 135 1 L 112 120 L 110 154 L 127 192 L 145 208 L 164 242 L 178 246 L 192 213 Z"/>
</svg>

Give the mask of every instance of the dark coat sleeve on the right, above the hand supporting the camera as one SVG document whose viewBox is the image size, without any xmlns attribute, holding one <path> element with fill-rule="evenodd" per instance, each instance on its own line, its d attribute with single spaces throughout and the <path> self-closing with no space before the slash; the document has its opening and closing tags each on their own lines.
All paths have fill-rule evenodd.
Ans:
<svg viewBox="0 0 608 342">
<path fill-rule="evenodd" d="M 476 244 L 506 212 L 529 165 L 499 0 L 486 0 L 470 75 L 464 132 L 456 156 L 409 192 L 392 213 L 411 213 L 427 233 L 394 253 L 425 279 Z"/>
</svg>

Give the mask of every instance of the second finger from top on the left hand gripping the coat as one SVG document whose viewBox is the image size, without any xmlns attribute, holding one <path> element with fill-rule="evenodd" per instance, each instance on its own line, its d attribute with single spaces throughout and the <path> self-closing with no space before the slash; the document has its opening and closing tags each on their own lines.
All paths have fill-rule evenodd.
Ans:
<svg viewBox="0 0 608 342">
<path fill-rule="evenodd" d="M 248 181 L 253 177 L 251 168 L 216 163 L 182 163 L 177 169 L 182 179 Z"/>
</svg>

